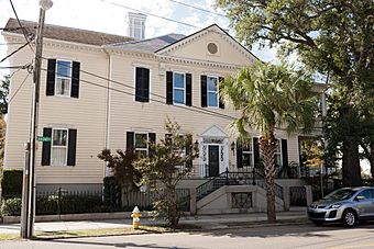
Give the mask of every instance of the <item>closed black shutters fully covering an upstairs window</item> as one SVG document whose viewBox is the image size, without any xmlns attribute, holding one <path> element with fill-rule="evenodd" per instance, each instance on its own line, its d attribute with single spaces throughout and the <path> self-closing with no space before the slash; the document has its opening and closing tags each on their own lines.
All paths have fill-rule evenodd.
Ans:
<svg viewBox="0 0 374 249">
<path fill-rule="evenodd" d="M 150 101 L 150 69 L 147 68 L 135 69 L 135 101 Z"/>
</svg>

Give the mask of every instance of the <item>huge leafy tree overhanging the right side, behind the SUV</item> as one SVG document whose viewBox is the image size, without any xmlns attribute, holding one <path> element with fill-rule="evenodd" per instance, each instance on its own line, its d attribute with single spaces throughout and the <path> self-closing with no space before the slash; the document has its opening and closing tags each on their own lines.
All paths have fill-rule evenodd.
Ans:
<svg viewBox="0 0 374 249">
<path fill-rule="evenodd" d="M 358 127 L 374 118 L 363 115 L 374 106 L 373 1 L 217 0 L 217 5 L 246 46 L 278 46 L 284 55 L 297 54 L 309 70 L 329 76 L 337 113 L 327 133 L 331 145 L 341 145 L 344 184 L 361 184 Z"/>
</svg>

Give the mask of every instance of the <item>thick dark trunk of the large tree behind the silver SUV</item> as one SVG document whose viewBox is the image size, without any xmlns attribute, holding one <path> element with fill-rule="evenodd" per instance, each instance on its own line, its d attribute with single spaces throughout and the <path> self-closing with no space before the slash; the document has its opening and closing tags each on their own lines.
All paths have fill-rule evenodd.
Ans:
<svg viewBox="0 0 374 249">
<path fill-rule="evenodd" d="M 343 140 L 342 170 L 344 186 L 362 185 L 359 143 L 352 137 L 345 137 Z"/>
</svg>

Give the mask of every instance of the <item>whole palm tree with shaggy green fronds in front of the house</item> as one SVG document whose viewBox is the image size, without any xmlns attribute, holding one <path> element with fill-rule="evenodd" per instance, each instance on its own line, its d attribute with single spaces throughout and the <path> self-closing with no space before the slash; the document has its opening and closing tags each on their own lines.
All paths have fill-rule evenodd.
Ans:
<svg viewBox="0 0 374 249">
<path fill-rule="evenodd" d="M 297 131 L 310 132 L 317 112 L 317 97 L 311 93 L 311 77 L 302 70 L 256 63 L 241 69 L 237 76 L 227 77 L 220 83 L 222 100 L 240 117 L 231 123 L 231 128 L 244 140 L 248 128 L 260 132 L 260 149 L 266 181 L 267 219 L 275 220 L 275 131 L 285 129 L 288 135 Z"/>
</svg>

